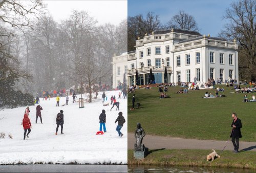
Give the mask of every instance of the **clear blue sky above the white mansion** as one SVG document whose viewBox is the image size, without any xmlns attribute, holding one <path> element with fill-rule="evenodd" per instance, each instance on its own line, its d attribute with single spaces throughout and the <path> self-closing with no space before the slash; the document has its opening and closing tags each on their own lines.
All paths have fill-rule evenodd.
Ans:
<svg viewBox="0 0 256 173">
<path fill-rule="evenodd" d="M 228 23 L 223 19 L 231 0 L 128 0 L 128 16 L 154 12 L 160 18 L 161 24 L 166 24 L 180 10 L 194 16 L 199 32 L 217 37 L 223 26 Z"/>
</svg>

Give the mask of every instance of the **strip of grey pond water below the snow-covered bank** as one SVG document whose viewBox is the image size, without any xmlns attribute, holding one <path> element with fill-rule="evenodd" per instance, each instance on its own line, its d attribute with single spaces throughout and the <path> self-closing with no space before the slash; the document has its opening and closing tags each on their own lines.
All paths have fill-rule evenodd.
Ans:
<svg viewBox="0 0 256 173">
<path fill-rule="evenodd" d="M 127 165 L 0 165 L 0 172 L 127 172 Z"/>
</svg>

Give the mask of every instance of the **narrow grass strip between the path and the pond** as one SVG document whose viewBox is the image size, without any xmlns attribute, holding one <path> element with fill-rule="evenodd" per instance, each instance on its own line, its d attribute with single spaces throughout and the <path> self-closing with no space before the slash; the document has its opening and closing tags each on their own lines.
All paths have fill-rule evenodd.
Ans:
<svg viewBox="0 0 256 173">
<path fill-rule="evenodd" d="M 165 166 L 202 166 L 256 169 L 256 152 L 240 152 L 216 150 L 221 156 L 213 162 L 206 161 L 211 150 L 201 149 L 159 149 L 150 150 L 143 160 L 133 158 L 133 150 L 128 150 L 128 164 L 165 165 Z"/>
</svg>

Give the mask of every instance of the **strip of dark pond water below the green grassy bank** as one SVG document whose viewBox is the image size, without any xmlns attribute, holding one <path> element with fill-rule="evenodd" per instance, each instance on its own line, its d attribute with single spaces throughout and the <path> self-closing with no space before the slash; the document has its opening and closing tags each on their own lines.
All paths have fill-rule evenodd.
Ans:
<svg viewBox="0 0 256 173">
<path fill-rule="evenodd" d="M 179 167 L 179 166 L 147 166 L 147 165 L 128 165 L 128 172 L 202 172 L 202 173 L 244 173 L 256 172 L 253 169 L 237 169 L 237 168 L 212 168 L 212 167 Z"/>
</svg>

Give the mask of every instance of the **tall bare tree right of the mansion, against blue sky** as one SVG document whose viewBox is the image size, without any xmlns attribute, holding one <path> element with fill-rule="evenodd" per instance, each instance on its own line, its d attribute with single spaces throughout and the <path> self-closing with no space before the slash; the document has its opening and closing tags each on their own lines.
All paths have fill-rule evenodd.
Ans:
<svg viewBox="0 0 256 173">
<path fill-rule="evenodd" d="M 239 69 L 248 69 L 252 80 L 256 78 L 256 1 L 233 2 L 223 16 L 229 20 L 219 34 L 239 42 Z M 247 71 L 247 70 L 246 70 Z M 241 76 L 241 75 L 240 75 Z"/>
</svg>

